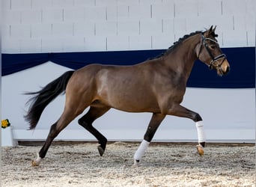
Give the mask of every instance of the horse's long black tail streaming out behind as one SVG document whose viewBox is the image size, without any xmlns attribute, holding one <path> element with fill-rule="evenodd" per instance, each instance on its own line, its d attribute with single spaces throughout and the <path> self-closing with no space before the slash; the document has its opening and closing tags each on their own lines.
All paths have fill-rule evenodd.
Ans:
<svg viewBox="0 0 256 187">
<path fill-rule="evenodd" d="M 29 122 L 29 129 L 34 129 L 37 126 L 37 122 L 40 119 L 43 109 L 46 108 L 46 105 L 66 90 L 67 82 L 73 73 L 74 71 L 67 71 L 58 79 L 46 85 L 42 90 L 25 93 L 28 95 L 37 94 L 28 100 L 28 102 L 31 102 L 31 105 L 28 108 L 28 114 L 24 116 L 25 120 Z"/>
</svg>

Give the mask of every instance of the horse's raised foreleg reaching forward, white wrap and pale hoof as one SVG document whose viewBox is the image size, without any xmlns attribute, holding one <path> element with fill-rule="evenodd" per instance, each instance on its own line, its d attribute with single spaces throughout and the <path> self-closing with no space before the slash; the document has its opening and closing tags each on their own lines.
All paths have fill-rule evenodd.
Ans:
<svg viewBox="0 0 256 187">
<path fill-rule="evenodd" d="M 198 131 L 197 150 L 198 150 L 198 154 L 202 156 L 204 154 L 204 146 L 205 146 L 206 138 L 204 133 L 204 123 L 201 116 L 195 111 L 191 111 L 183 107 L 182 105 L 175 105 L 174 107 L 172 107 L 171 110 L 168 111 L 168 114 L 171 114 L 177 117 L 186 117 L 195 121 L 195 126 Z"/>
</svg>

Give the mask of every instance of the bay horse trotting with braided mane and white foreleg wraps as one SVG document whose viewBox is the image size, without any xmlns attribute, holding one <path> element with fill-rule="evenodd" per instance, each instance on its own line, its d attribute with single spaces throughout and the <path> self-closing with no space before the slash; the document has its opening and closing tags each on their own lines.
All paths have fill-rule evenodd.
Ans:
<svg viewBox="0 0 256 187">
<path fill-rule="evenodd" d="M 30 129 L 37 126 L 46 105 L 59 94 L 66 93 L 64 111 L 51 126 L 43 147 L 37 153 L 37 159 L 32 160 L 32 165 L 40 165 L 54 138 L 88 106 L 89 111 L 78 123 L 97 138 L 100 156 L 103 156 L 106 149 L 107 139 L 92 124 L 110 108 L 153 113 L 144 140 L 135 152 L 135 165 L 138 165 L 166 115 L 187 117 L 195 122 L 198 132 L 197 150 L 199 155 L 203 155 L 206 141 L 203 120 L 200 114 L 183 107 L 180 102 L 183 100 L 186 82 L 195 60 L 199 59 L 207 64 L 210 69 L 216 70 L 219 76 L 230 70 L 228 60 L 219 48 L 215 30 L 216 27 L 211 26 L 206 31 L 185 35 L 162 55 L 140 64 L 90 64 L 76 71 L 67 71 L 40 91 L 28 93 L 34 94 L 28 100 L 31 105 L 25 115 Z"/>
</svg>

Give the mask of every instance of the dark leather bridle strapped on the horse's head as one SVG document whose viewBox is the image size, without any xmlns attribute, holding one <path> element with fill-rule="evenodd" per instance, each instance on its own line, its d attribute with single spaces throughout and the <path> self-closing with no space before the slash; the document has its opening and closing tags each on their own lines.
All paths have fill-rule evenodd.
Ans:
<svg viewBox="0 0 256 187">
<path fill-rule="evenodd" d="M 224 53 L 222 53 L 221 55 L 218 55 L 218 56 L 214 57 L 213 54 L 210 52 L 210 49 L 208 48 L 208 44 L 205 41 L 210 40 L 214 43 L 218 43 L 218 42 L 216 40 L 211 39 L 210 37 L 204 37 L 203 33 L 201 34 L 201 36 L 202 36 L 202 43 L 201 43 L 201 46 L 200 46 L 200 49 L 199 49 L 199 52 L 198 52 L 198 58 L 199 58 L 202 46 L 204 45 L 205 49 L 207 49 L 208 54 L 212 58 L 212 61 L 210 61 L 210 64 L 209 64 L 210 70 L 213 70 L 213 66 L 218 67 L 218 68 L 221 67 L 222 63 L 224 61 L 224 58 L 226 58 L 226 55 Z M 219 61 L 220 59 L 223 59 L 222 63 L 214 64 L 215 61 Z"/>
</svg>

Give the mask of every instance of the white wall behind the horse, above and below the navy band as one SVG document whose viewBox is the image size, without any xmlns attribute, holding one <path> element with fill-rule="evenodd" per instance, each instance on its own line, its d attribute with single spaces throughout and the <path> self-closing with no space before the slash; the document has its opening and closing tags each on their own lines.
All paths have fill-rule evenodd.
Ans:
<svg viewBox="0 0 256 187">
<path fill-rule="evenodd" d="M 192 31 L 217 25 L 221 47 L 255 46 L 255 0 L 3 0 L 4 53 L 167 49 Z M 234 38 L 236 40 L 234 40 Z M 64 107 L 59 96 L 34 131 L 23 119 L 25 91 L 37 91 L 68 70 L 48 62 L 1 79 L 1 116 L 19 140 L 42 140 Z M 206 68 L 207 71 L 207 68 Z M 220 78 L 221 79 L 221 78 Z M 188 88 L 183 105 L 204 119 L 209 141 L 255 139 L 255 89 Z M 150 114 L 111 110 L 95 122 L 110 140 L 142 139 Z M 95 140 L 77 119 L 56 138 Z M 154 140 L 196 141 L 192 120 L 166 117 Z"/>
</svg>

